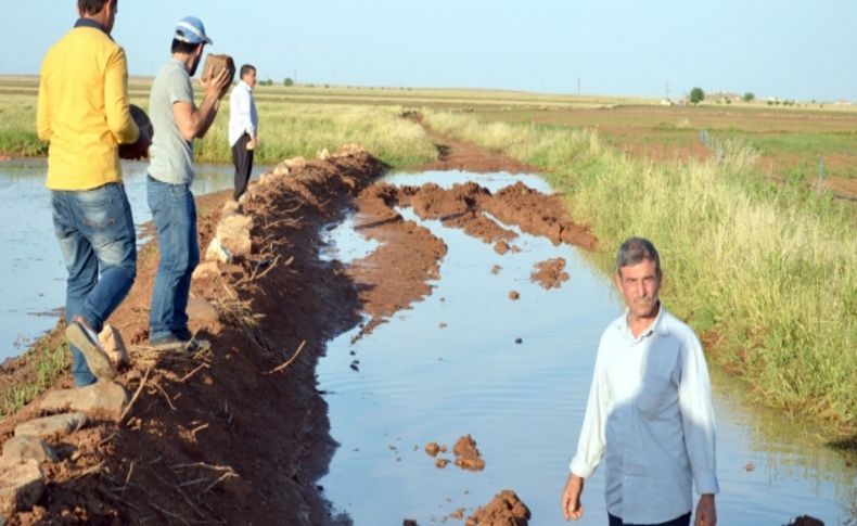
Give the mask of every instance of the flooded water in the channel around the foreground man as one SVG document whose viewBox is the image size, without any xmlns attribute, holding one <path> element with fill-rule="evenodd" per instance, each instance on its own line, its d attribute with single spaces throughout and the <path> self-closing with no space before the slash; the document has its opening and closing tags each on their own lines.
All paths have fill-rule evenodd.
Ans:
<svg viewBox="0 0 857 526">
<path fill-rule="evenodd" d="M 474 180 L 493 192 L 535 177 L 460 172 L 393 176 L 394 183 Z M 389 323 L 351 343 L 333 341 L 319 364 L 332 435 L 340 442 L 320 484 L 337 512 L 357 525 L 461 524 L 502 489 L 529 506 L 532 525 L 563 524 L 559 493 L 585 410 L 594 349 L 605 324 L 623 310 L 606 277 L 576 249 L 522 234 L 520 253 L 444 228 L 430 228 L 448 245 L 433 292 Z M 521 233 L 519 231 L 519 233 Z M 374 245 L 344 223 L 331 233 L 329 257 L 346 262 Z M 563 257 L 571 280 L 546 291 L 529 275 L 536 262 Z M 358 262 L 359 264 L 359 262 Z M 495 266 L 501 267 L 493 273 Z M 509 293 L 516 291 L 513 302 Z M 519 341 L 521 343 L 516 343 Z M 786 524 L 809 514 L 828 525 L 849 524 L 855 469 L 820 447 L 813 429 L 753 409 L 713 371 L 718 421 L 720 524 Z M 468 472 L 435 467 L 424 447 L 452 445 L 471 434 L 486 466 Z M 453 459 L 450 453 L 440 454 Z M 581 524 L 606 524 L 603 473 L 587 483 Z"/>
</svg>

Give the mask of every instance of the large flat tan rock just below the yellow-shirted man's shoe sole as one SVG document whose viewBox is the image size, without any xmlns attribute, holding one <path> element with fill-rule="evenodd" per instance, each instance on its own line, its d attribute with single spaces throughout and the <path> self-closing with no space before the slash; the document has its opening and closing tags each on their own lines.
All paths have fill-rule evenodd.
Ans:
<svg viewBox="0 0 857 526">
<path fill-rule="evenodd" d="M 39 409 L 49 413 L 79 411 L 93 418 L 116 420 L 127 403 L 125 387 L 102 381 L 75 389 L 52 390 L 39 402 Z"/>
</svg>

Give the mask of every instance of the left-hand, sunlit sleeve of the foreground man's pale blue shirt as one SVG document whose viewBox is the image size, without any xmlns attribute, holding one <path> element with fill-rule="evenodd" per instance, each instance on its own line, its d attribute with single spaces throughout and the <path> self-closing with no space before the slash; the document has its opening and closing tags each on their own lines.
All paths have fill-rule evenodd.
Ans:
<svg viewBox="0 0 857 526">
<path fill-rule="evenodd" d="M 581 478 L 589 478 L 596 472 L 606 445 L 605 431 L 610 392 L 607 389 L 606 369 L 601 347 L 600 345 L 598 357 L 596 358 L 584 425 L 580 428 L 580 437 L 577 440 L 577 452 L 570 465 L 571 472 Z"/>
</svg>

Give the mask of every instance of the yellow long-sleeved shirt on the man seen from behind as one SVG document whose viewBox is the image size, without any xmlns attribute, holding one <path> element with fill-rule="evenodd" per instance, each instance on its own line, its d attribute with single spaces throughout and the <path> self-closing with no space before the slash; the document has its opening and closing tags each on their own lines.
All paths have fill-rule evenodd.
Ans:
<svg viewBox="0 0 857 526">
<path fill-rule="evenodd" d="M 121 181 L 118 144 L 140 130 L 128 108 L 125 51 L 81 18 L 44 56 L 37 110 L 39 139 L 50 141 L 51 190 L 91 190 Z"/>
</svg>

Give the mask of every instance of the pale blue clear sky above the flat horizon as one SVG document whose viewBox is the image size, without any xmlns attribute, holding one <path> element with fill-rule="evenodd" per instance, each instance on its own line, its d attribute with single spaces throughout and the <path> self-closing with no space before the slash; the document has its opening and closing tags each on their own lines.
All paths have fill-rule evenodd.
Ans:
<svg viewBox="0 0 857 526">
<path fill-rule="evenodd" d="M 15 4 L 0 75 L 38 74 L 77 2 Z M 857 101 L 854 0 L 120 0 L 131 75 L 157 73 L 189 14 L 206 51 L 274 82 Z"/>
</svg>

